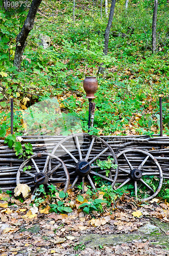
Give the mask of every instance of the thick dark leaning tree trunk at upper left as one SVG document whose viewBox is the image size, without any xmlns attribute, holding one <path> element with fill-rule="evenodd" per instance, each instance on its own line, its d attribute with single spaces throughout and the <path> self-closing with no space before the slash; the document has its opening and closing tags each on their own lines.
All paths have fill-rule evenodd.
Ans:
<svg viewBox="0 0 169 256">
<path fill-rule="evenodd" d="M 25 50 L 26 47 L 26 40 L 29 35 L 29 32 L 33 29 L 35 16 L 41 2 L 42 0 L 32 1 L 25 23 L 23 24 L 20 33 L 16 37 L 14 66 L 17 68 L 17 71 L 20 70 L 23 51 Z"/>
</svg>

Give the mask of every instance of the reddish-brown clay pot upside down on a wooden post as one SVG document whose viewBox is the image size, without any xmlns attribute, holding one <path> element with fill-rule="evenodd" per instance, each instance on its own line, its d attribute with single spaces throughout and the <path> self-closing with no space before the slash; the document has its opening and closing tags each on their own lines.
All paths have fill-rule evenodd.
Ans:
<svg viewBox="0 0 169 256">
<path fill-rule="evenodd" d="M 86 92 L 86 98 L 94 99 L 94 93 L 98 89 L 98 80 L 95 76 L 86 76 L 83 81 L 83 88 Z"/>
</svg>

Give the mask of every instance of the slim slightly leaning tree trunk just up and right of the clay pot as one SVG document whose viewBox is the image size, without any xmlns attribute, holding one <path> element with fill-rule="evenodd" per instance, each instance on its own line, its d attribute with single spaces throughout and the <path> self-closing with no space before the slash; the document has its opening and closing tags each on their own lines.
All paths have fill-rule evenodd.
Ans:
<svg viewBox="0 0 169 256">
<path fill-rule="evenodd" d="M 109 34 L 110 34 L 110 29 L 111 29 L 111 25 L 112 25 L 112 21 L 113 21 L 113 15 L 114 15 L 114 8 L 115 8 L 115 0 L 111 1 L 111 7 L 110 7 L 110 13 L 109 13 L 109 20 L 108 20 L 108 24 L 105 30 L 105 41 L 104 41 L 104 54 L 107 55 L 108 52 L 108 44 L 109 44 Z M 99 71 L 98 73 L 103 74 L 105 70 L 105 67 L 103 67 L 103 65 L 101 65 L 99 67 Z"/>
</svg>

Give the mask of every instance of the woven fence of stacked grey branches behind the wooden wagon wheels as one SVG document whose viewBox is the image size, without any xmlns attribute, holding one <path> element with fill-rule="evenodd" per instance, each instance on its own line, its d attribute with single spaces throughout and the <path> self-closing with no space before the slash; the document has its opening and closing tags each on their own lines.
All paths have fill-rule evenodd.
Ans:
<svg viewBox="0 0 169 256">
<path fill-rule="evenodd" d="M 55 145 L 63 138 L 65 138 L 65 136 L 43 136 L 43 139 L 39 138 L 39 136 L 23 136 L 21 143 L 23 148 L 25 143 L 31 143 L 34 153 L 46 152 L 46 147 L 47 151 L 50 150 L 52 152 Z M 142 135 L 101 136 L 101 138 L 112 147 L 116 155 L 123 150 L 130 150 L 132 161 L 137 161 L 137 155 L 132 152 L 133 149 L 143 150 L 151 153 L 159 162 L 164 179 L 169 179 L 169 137 L 149 137 Z M 83 143 L 82 147 L 84 152 L 85 144 L 87 143 L 88 141 L 84 141 Z M 100 141 L 97 140 L 95 140 L 93 148 L 95 149 L 96 154 L 103 150 L 103 148 L 101 148 Z M 62 152 L 60 152 L 60 154 L 62 154 Z M 107 155 L 105 154 L 102 156 L 102 160 L 104 160 L 104 156 L 105 159 L 107 159 Z M 18 159 L 14 150 L 11 150 L 7 144 L 4 144 L 4 140 L 0 140 L 0 188 L 2 190 L 15 188 L 17 170 L 23 161 L 23 158 Z M 43 159 L 41 161 L 43 164 Z M 65 162 L 69 163 L 69 161 L 71 165 L 72 159 L 65 156 Z M 68 171 L 71 172 L 71 170 Z"/>
</svg>

